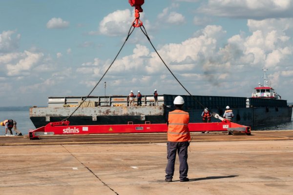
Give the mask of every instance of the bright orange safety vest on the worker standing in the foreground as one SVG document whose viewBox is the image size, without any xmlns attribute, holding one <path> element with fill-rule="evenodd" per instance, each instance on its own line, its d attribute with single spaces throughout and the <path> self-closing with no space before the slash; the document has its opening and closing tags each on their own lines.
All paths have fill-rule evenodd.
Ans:
<svg viewBox="0 0 293 195">
<path fill-rule="evenodd" d="M 183 142 L 190 140 L 188 130 L 189 114 L 182 110 L 169 112 L 168 116 L 168 141 Z"/>
</svg>

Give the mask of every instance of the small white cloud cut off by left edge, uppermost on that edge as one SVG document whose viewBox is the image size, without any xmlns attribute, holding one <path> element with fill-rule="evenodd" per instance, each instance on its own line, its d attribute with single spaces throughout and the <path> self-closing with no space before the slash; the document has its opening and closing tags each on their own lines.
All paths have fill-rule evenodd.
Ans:
<svg viewBox="0 0 293 195">
<path fill-rule="evenodd" d="M 15 33 L 16 31 L 3 31 L 0 34 L 0 53 L 8 53 L 18 49 L 21 35 L 18 34 L 14 37 Z"/>
</svg>

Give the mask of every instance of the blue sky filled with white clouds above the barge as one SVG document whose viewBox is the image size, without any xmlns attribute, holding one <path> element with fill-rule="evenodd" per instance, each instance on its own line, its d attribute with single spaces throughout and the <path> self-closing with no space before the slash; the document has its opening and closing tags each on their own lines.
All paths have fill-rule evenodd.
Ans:
<svg viewBox="0 0 293 195">
<path fill-rule="evenodd" d="M 269 86 L 293 102 L 293 0 L 145 0 L 142 8 L 152 44 L 192 95 L 251 97 L 266 67 Z M 128 0 L 0 0 L 1 106 L 87 96 L 133 20 Z M 135 28 L 91 95 L 154 89 L 187 95 Z"/>
</svg>

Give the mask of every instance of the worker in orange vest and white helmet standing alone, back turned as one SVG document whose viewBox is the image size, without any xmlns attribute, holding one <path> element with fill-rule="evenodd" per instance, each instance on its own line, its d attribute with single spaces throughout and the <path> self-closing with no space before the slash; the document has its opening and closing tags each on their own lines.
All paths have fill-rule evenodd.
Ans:
<svg viewBox="0 0 293 195">
<path fill-rule="evenodd" d="M 182 110 L 184 99 L 181 96 L 177 96 L 174 99 L 175 110 L 169 112 L 168 115 L 168 131 L 167 131 L 167 166 L 166 166 L 166 178 L 165 181 L 171 182 L 174 175 L 174 165 L 176 153 L 179 157 L 179 179 L 181 182 L 189 181 L 187 177 L 188 173 L 188 146 L 190 134 L 188 129 L 189 114 Z"/>
</svg>

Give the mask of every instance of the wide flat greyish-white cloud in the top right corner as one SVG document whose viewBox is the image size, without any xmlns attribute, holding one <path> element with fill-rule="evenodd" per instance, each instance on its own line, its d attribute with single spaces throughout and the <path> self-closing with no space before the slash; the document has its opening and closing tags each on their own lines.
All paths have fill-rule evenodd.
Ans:
<svg viewBox="0 0 293 195">
<path fill-rule="evenodd" d="M 220 17 L 245 19 L 292 18 L 293 0 L 209 0 L 197 9 Z"/>
</svg>

